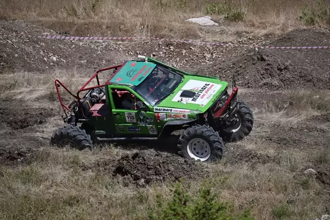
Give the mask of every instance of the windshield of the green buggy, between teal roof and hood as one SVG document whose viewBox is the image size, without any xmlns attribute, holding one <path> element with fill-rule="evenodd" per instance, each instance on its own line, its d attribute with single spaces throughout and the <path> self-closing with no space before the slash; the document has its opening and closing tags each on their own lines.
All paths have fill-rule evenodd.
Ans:
<svg viewBox="0 0 330 220">
<path fill-rule="evenodd" d="M 151 74 L 135 88 L 135 91 L 151 105 L 155 105 L 157 102 L 170 95 L 180 84 L 181 79 L 181 75 L 156 66 Z"/>
</svg>

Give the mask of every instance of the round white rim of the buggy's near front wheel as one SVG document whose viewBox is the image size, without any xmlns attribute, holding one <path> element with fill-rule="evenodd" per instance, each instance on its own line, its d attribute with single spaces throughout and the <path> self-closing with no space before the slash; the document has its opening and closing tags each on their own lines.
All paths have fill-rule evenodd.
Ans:
<svg viewBox="0 0 330 220">
<path fill-rule="evenodd" d="M 211 155 L 210 145 L 204 139 L 191 139 L 187 145 L 187 151 L 191 158 L 201 161 L 207 160 Z"/>
</svg>

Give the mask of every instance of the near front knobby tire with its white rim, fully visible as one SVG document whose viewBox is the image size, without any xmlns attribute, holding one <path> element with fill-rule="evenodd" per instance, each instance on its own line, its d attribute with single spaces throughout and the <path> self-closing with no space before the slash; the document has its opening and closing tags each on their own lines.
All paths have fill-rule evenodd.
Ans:
<svg viewBox="0 0 330 220">
<path fill-rule="evenodd" d="M 221 160 L 224 144 L 218 132 L 206 125 L 187 128 L 178 142 L 179 154 L 201 161 Z"/>
</svg>

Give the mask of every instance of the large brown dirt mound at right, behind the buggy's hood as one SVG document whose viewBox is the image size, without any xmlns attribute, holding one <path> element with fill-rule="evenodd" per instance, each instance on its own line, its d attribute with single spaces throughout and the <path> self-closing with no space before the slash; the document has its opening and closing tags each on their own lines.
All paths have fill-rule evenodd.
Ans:
<svg viewBox="0 0 330 220">
<path fill-rule="evenodd" d="M 330 45 L 328 30 L 299 30 L 285 34 L 268 45 Z M 230 51 L 229 51 L 230 54 Z M 234 58 L 234 57 L 232 57 Z M 247 88 L 329 88 L 330 51 L 326 49 L 253 49 L 235 59 L 215 61 L 197 69 L 203 74 L 228 78 L 235 75 L 237 85 Z"/>
</svg>

